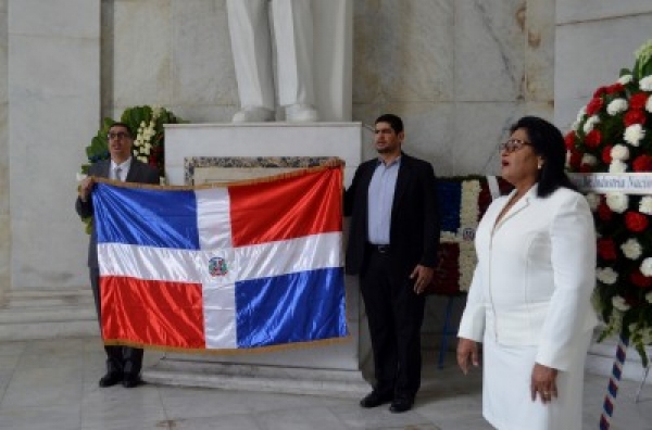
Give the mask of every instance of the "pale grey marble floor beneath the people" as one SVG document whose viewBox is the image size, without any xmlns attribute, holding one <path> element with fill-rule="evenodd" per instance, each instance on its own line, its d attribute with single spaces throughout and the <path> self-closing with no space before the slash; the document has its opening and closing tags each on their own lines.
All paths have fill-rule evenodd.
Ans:
<svg viewBox="0 0 652 430">
<path fill-rule="evenodd" d="M 146 367 L 161 353 L 146 352 Z M 449 359 L 453 354 L 449 354 Z M 95 338 L 0 342 L 2 430 L 485 430 L 479 371 L 463 377 L 452 363 L 426 356 L 414 409 L 362 409 L 358 401 L 145 384 L 100 389 L 103 351 Z M 587 375 L 582 430 L 598 429 L 609 379 Z M 637 382 L 623 381 L 612 429 L 652 430 L 652 385 L 635 403 Z M 524 429 L 525 430 L 525 429 Z M 576 429 L 560 429 L 576 430 Z"/>
</svg>

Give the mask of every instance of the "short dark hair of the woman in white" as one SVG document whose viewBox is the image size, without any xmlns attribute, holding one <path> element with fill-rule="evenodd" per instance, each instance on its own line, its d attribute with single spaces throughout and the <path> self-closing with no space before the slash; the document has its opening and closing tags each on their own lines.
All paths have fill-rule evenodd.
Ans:
<svg viewBox="0 0 652 430">
<path fill-rule="evenodd" d="M 577 190 L 565 172 L 566 146 L 559 128 L 537 116 L 524 116 L 510 130 L 523 129 L 527 134 L 535 153 L 543 159 L 537 182 L 538 197 L 548 197 L 560 187 Z"/>
</svg>

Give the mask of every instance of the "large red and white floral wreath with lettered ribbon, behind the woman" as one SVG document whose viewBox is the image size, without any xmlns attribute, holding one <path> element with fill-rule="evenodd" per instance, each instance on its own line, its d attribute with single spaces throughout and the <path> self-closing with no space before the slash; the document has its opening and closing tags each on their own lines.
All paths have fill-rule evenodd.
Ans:
<svg viewBox="0 0 652 430">
<path fill-rule="evenodd" d="M 652 172 L 652 40 L 584 106 L 566 137 L 567 166 L 576 173 Z M 652 190 L 650 195 L 589 192 L 598 232 L 595 309 L 602 341 L 619 334 L 643 366 L 652 344 Z"/>
</svg>

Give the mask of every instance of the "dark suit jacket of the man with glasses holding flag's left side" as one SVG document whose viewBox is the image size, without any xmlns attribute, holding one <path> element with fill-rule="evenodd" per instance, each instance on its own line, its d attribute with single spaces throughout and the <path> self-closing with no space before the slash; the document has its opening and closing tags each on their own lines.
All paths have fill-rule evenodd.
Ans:
<svg viewBox="0 0 652 430">
<path fill-rule="evenodd" d="M 109 169 L 111 168 L 111 160 L 103 160 L 95 163 L 88 168 L 89 176 L 97 176 L 100 178 L 109 177 Z M 145 164 L 139 162 L 136 159 L 131 159 L 131 166 L 129 167 L 129 172 L 127 173 L 126 181 L 127 182 L 140 182 L 140 184 L 160 184 L 159 170 L 149 164 Z M 77 197 L 77 201 L 75 202 L 75 210 L 80 217 L 87 218 L 92 216 L 92 199 L 88 199 L 86 202 L 83 202 L 82 199 Z M 95 225 L 92 227 L 92 231 L 90 233 L 90 241 L 88 243 L 88 267 L 98 267 L 98 239 L 95 229 Z"/>
</svg>

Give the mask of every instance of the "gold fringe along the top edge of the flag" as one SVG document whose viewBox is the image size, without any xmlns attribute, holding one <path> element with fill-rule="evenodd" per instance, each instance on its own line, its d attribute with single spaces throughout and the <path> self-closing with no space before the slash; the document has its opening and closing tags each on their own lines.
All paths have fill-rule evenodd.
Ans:
<svg viewBox="0 0 652 430">
<path fill-rule="evenodd" d="M 188 191 L 188 190 L 205 190 L 211 188 L 225 188 L 225 187 L 237 187 L 237 186 L 248 186 L 253 184 L 262 184 L 262 182 L 273 182 L 276 180 L 293 178 L 298 176 L 303 176 L 316 172 L 322 172 L 331 168 L 342 168 L 344 166 L 344 161 L 338 157 L 333 157 L 324 161 L 321 165 L 314 167 L 305 167 L 300 168 L 292 172 L 286 172 L 277 175 L 263 176 L 260 178 L 253 179 L 242 179 L 235 180 L 230 182 L 212 182 L 212 184 L 202 184 L 198 186 L 161 186 L 161 185 L 152 185 L 152 184 L 139 184 L 139 182 L 123 182 L 121 180 L 101 178 L 98 176 L 92 176 L 96 182 L 110 184 L 116 187 L 123 188 L 142 188 L 142 189 L 155 189 L 155 190 L 176 190 L 176 191 Z"/>
</svg>

